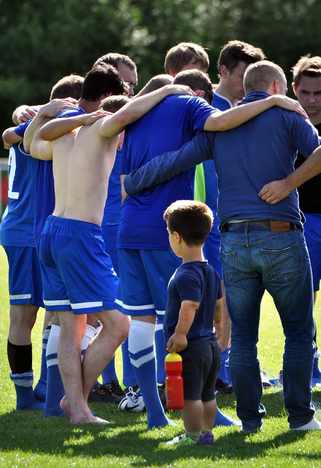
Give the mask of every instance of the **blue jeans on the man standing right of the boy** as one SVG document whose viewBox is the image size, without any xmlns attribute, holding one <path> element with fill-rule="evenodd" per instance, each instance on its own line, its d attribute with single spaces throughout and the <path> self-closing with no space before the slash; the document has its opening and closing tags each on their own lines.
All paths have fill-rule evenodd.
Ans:
<svg viewBox="0 0 321 468">
<path fill-rule="evenodd" d="M 265 290 L 274 300 L 285 335 L 288 422 L 290 428 L 306 424 L 314 414 L 310 382 L 315 344 L 311 267 L 302 232 L 248 231 L 246 223 L 244 231 L 222 233 L 220 261 L 231 318 L 230 372 L 243 429 L 256 430 L 265 415 L 256 347 Z"/>
</svg>

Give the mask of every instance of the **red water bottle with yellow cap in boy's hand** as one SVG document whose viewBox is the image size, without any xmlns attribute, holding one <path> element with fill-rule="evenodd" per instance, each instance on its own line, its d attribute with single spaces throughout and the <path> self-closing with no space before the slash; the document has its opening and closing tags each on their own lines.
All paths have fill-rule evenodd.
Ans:
<svg viewBox="0 0 321 468">
<path fill-rule="evenodd" d="M 184 408 L 184 390 L 182 378 L 183 362 L 178 353 L 170 353 L 165 358 L 166 404 L 168 409 Z"/>
</svg>

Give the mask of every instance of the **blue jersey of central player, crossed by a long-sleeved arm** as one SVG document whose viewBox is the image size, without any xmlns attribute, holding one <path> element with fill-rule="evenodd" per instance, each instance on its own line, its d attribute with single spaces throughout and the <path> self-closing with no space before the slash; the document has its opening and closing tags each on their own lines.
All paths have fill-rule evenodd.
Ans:
<svg viewBox="0 0 321 468">
<path fill-rule="evenodd" d="M 162 151 L 179 148 L 203 130 L 215 112 L 204 99 L 168 96 L 126 129 L 121 173 L 150 161 Z M 120 249 L 169 249 L 165 209 L 175 200 L 193 199 L 195 169 L 185 171 L 161 186 L 126 198 L 118 230 Z"/>
</svg>

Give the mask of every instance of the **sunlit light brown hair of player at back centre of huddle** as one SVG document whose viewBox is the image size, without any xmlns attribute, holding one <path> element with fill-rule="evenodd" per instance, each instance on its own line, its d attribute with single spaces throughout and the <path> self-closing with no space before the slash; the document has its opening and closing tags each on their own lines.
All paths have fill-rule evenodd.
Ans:
<svg viewBox="0 0 321 468">
<path fill-rule="evenodd" d="M 178 73 L 192 61 L 201 62 L 206 71 L 210 65 L 209 56 L 202 46 L 193 42 L 181 42 L 166 54 L 165 71 L 169 73 L 172 69 L 174 73 Z"/>
</svg>

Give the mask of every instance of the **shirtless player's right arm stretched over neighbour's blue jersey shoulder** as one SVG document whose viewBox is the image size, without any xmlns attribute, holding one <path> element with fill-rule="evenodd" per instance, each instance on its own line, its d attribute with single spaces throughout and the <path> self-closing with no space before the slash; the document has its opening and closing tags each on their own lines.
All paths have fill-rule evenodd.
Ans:
<svg viewBox="0 0 321 468">
<path fill-rule="evenodd" d="M 126 125 L 138 120 L 170 94 L 195 96 L 194 91 L 189 86 L 166 85 L 145 96 L 133 98 L 111 117 L 102 120 L 99 130 L 100 135 L 103 137 L 118 135 L 118 133 L 124 130 Z"/>
</svg>

